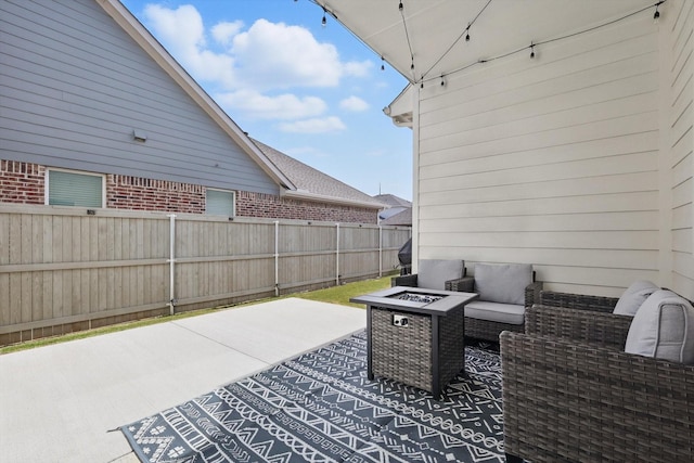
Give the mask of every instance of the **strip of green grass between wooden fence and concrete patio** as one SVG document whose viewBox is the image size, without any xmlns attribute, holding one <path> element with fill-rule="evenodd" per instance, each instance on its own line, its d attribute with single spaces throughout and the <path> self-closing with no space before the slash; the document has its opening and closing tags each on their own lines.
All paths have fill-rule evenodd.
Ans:
<svg viewBox="0 0 694 463">
<path fill-rule="evenodd" d="M 325 290 L 317 290 L 317 291 L 309 291 L 306 293 L 291 294 L 287 296 L 281 296 L 280 298 L 299 297 L 301 299 L 310 299 L 310 300 L 318 300 L 321 303 L 340 304 L 343 306 L 354 306 L 354 307 L 363 308 L 364 307 L 363 305 L 350 303 L 349 298 L 359 296 L 362 294 L 367 294 L 367 293 L 373 293 L 374 291 L 383 290 L 388 286 L 390 286 L 390 276 L 384 276 L 377 280 L 364 280 L 364 281 L 359 281 L 355 283 L 343 284 L 339 286 L 327 287 Z M 237 306 L 232 306 L 232 308 L 247 306 L 252 304 L 258 304 L 258 303 L 262 303 L 266 300 L 273 300 L 273 299 L 274 298 L 254 300 L 250 303 L 244 303 Z M 185 319 L 189 317 L 197 317 L 197 316 L 210 313 L 217 310 L 224 310 L 228 308 L 229 307 L 217 307 L 214 309 L 193 310 L 190 312 L 181 312 L 181 313 L 177 313 L 168 317 L 157 317 L 157 318 L 151 318 L 145 320 L 139 320 L 134 322 L 108 325 L 108 326 L 104 326 L 95 330 L 80 331 L 77 333 L 66 334 L 63 336 L 54 336 L 54 337 L 36 339 L 36 340 L 28 340 L 26 343 L 13 344 L 11 346 L 0 347 L 0 355 L 15 352 L 17 350 L 33 349 L 35 347 L 40 347 L 40 346 L 49 346 L 51 344 L 65 343 L 67 340 L 98 336 L 106 333 L 115 333 L 118 331 L 130 330 L 133 327 L 147 326 L 155 323 L 164 323 L 172 320 Z"/>
</svg>

